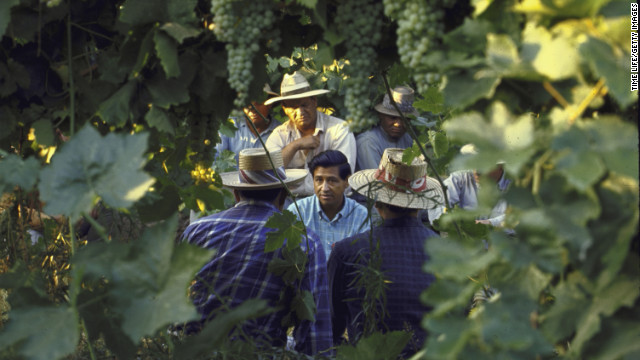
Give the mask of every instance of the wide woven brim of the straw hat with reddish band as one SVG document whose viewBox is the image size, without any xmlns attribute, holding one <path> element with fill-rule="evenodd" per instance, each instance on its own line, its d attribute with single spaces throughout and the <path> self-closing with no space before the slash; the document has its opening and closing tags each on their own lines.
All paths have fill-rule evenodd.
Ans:
<svg viewBox="0 0 640 360">
<path fill-rule="evenodd" d="M 385 204 L 408 209 L 433 209 L 444 204 L 444 193 L 438 180 L 427 177 L 427 189 L 422 193 L 405 193 L 390 189 L 375 178 L 375 169 L 361 170 L 349 177 L 355 192 Z"/>
</svg>

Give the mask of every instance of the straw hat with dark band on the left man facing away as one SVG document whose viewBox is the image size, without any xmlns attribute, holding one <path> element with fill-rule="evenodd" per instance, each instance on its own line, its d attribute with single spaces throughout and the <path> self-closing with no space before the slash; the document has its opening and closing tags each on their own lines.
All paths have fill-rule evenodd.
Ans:
<svg viewBox="0 0 640 360">
<path fill-rule="evenodd" d="M 284 169 L 282 151 L 269 150 L 276 168 L 273 171 L 264 149 L 243 149 L 238 155 L 238 171 L 220 174 L 224 186 L 240 190 L 267 190 L 282 187 L 278 177 L 286 185 L 295 185 L 307 176 L 307 169 Z"/>
</svg>

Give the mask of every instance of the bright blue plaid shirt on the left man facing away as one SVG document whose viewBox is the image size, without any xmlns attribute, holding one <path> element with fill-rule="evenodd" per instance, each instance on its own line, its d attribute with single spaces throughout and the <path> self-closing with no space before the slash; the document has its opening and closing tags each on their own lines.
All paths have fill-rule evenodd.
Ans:
<svg viewBox="0 0 640 360">
<path fill-rule="evenodd" d="M 285 284 L 279 276 L 267 271 L 269 262 L 280 250 L 265 253 L 265 227 L 269 217 L 279 210 L 271 203 L 241 201 L 233 208 L 194 221 L 184 231 L 183 239 L 216 254 L 196 275 L 191 287 L 193 302 L 202 314 L 201 322 L 214 317 L 214 312 L 234 308 L 252 298 L 266 300 L 275 307 Z M 313 355 L 332 347 L 331 315 L 327 286 L 325 254 L 315 235 L 309 236 L 308 263 L 302 290 L 315 299 L 315 322 L 302 321 L 293 332 L 295 349 Z M 303 241 L 306 248 L 306 242 Z M 284 346 L 287 329 L 280 323 L 285 310 L 247 322 L 246 333 L 272 346 Z"/>
</svg>

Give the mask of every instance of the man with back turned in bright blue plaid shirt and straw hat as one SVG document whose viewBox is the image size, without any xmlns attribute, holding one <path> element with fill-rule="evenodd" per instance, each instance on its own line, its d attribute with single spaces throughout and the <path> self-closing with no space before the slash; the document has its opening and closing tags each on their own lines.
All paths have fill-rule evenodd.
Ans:
<svg viewBox="0 0 640 360">
<path fill-rule="evenodd" d="M 272 152 L 271 157 L 276 172 L 263 149 L 242 150 L 239 171 L 221 174 L 223 184 L 233 189 L 237 204 L 198 219 L 184 231 L 183 238 L 189 243 L 216 250 L 192 285 L 193 302 L 201 320 L 190 328 L 197 330 L 197 325 L 203 326 L 216 312 L 232 309 L 248 299 L 264 299 L 271 307 L 280 300 L 285 283 L 268 266 L 271 260 L 281 257 L 281 251 L 265 253 L 266 235 L 271 230 L 265 223 L 282 209 L 286 197 L 279 179 L 293 185 L 302 181 L 307 171 L 285 171 L 279 151 Z M 296 326 L 293 338 L 297 351 L 314 355 L 332 347 L 326 258 L 316 235 L 310 234 L 302 246 L 308 261 L 301 269 L 304 276 L 298 285 L 313 294 L 316 314 L 314 322 L 303 320 Z M 244 332 L 256 342 L 285 346 L 287 328 L 281 322 L 287 309 L 276 310 L 243 324 Z"/>
</svg>

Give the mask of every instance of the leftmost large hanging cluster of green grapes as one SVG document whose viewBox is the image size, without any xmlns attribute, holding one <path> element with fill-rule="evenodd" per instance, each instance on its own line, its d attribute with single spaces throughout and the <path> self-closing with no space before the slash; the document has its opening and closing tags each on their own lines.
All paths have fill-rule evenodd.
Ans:
<svg viewBox="0 0 640 360">
<path fill-rule="evenodd" d="M 214 34 L 227 43 L 229 85 L 237 93 L 234 107 L 241 109 L 249 102 L 253 58 L 275 20 L 273 1 L 211 0 L 211 12 Z"/>
</svg>

